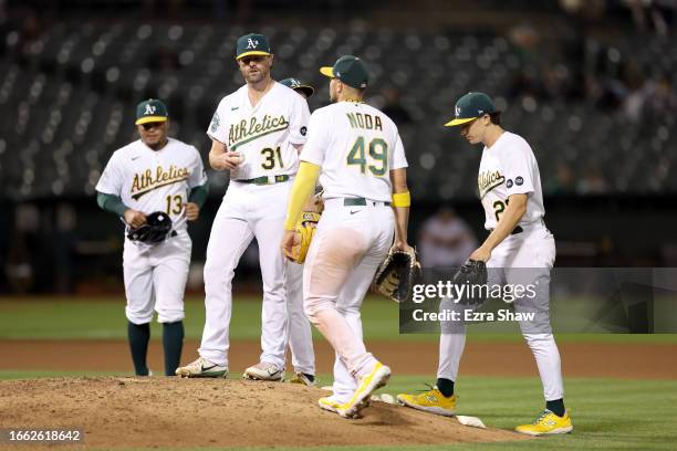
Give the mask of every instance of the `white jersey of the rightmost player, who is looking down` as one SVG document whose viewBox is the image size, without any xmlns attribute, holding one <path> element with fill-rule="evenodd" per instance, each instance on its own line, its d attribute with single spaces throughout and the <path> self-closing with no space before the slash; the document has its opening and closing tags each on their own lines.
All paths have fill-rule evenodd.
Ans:
<svg viewBox="0 0 677 451">
<path fill-rule="evenodd" d="M 487 230 L 496 229 L 512 195 L 529 196 L 520 226 L 527 226 L 545 214 L 539 165 L 531 146 L 519 135 L 503 132 L 491 148 L 485 147 L 477 183 Z"/>
</svg>

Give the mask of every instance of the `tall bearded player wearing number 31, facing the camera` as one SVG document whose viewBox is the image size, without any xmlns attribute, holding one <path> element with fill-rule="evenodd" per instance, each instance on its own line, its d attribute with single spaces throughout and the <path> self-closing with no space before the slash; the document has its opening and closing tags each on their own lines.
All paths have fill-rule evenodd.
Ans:
<svg viewBox="0 0 677 451">
<path fill-rule="evenodd" d="M 209 164 L 229 170 L 230 183 L 207 245 L 202 343 L 199 358 L 178 368 L 177 375 L 228 375 L 231 282 L 256 237 L 263 277 L 262 354 L 243 376 L 282 380 L 288 307 L 285 262 L 278 243 L 310 112 L 300 95 L 271 78 L 273 55 L 264 35 L 239 38 L 236 61 L 246 84 L 221 99 L 207 130 L 212 141 Z"/>
</svg>

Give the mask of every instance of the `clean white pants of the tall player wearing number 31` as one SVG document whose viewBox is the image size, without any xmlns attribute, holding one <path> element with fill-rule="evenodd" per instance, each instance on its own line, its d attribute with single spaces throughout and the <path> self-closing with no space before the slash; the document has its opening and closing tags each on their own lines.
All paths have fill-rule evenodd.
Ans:
<svg viewBox="0 0 677 451">
<path fill-rule="evenodd" d="M 253 238 L 263 279 L 260 361 L 284 368 L 288 310 L 280 251 L 291 181 L 257 186 L 230 182 L 215 218 L 205 263 L 205 310 L 200 356 L 228 366 L 232 277 Z"/>
</svg>

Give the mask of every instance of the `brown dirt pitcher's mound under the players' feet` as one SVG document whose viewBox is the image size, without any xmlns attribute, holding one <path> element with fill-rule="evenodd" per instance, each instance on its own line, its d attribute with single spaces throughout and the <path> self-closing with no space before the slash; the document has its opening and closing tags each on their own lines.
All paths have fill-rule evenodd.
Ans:
<svg viewBox="0 0 677 451">
<path fill-rule="evenodd" d="M 360 420 L 317 407 L 326 391 L 176 378 L 0 381 L 3 428 L 84 431 L 85 448 L 316 447 L 496 442 L 525 437 L 372 402 Z"/>
</svg>

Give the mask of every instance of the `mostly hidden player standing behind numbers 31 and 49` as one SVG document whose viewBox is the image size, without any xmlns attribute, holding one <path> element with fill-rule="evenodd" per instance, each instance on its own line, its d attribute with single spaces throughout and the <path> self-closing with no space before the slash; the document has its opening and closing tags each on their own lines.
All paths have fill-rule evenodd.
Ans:
<svg viewBox="0 0 677 451">
<path fill-rule="evenodd" d="M 298 78 L 284 78 L 280 83 L 294 90 L 303 98 L 309 98 L 315 92 L 313 86 Z M 304 210 L 313 210 L 313 206 L 306 204 Z M 294 377 L 289 381 L 312 387 L 316 385 L 315 353 L 310 322 L 303 313 L 303 265 L 291 262 L 287 264 L 285 290 L 289 307 L 288 339 L 294 367 Z"/>
</svg>

